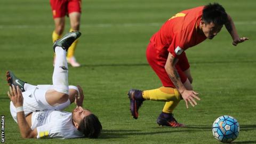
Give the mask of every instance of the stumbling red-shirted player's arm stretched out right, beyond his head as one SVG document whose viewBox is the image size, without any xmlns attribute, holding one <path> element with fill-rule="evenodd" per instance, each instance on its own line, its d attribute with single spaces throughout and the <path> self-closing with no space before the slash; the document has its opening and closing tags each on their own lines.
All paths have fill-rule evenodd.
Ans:
<svg viewBox="0 0 256 144">
<path fill-rule="evenodd" d="M 239 37 L 239 35 L 237 34 L 237 31 L 236 31 L 235 24 L 234 24 L 232 18 L 230 17 L 230 15 L 228 15 L 228 22 L 225 24 L 225 27 L 228 30 L 231 37 L 233 38 L 232 44 L 234 46 L 249 39 L 247 37 Z"/>
</svg>

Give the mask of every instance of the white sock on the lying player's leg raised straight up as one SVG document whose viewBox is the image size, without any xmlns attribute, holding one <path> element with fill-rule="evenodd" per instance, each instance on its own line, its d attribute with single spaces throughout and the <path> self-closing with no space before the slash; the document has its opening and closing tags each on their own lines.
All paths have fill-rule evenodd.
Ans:
<svg viewBox="0 0 256 144">
<path fill-rule="evenodd" d="M 66 51 L 60 46 L 55 47 L 55 66 L 52 83 L 55 91 L 68 94 L 68 64 Z"/>
</svg>

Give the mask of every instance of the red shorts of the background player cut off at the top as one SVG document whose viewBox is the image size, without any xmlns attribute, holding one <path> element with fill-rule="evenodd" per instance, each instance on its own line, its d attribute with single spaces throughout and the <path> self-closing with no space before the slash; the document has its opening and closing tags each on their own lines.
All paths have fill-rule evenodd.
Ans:
<svg viewBox="0 0 256 144">
<path fill-rule="evenodd" d="M 50 0 L 53 18 L 65 17 L 71 12 L 81 13 L 81 0 Z"/>
</svg>

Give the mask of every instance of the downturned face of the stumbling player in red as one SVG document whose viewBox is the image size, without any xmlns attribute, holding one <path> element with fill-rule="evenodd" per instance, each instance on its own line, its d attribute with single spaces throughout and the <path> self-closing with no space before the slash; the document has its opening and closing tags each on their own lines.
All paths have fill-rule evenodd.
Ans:
<svg viewBox="0 0 256 144">
<path fill-rule="evenodd" d="M 220 32 L 222 27 L 223 25 L 218 26 L 218 25 L 215 25 L 213 22 L 211 23 L 202 22 L 202 31 L 208 39 L 212 39 L 214 36 L 216 36 Z"/>
</svg>

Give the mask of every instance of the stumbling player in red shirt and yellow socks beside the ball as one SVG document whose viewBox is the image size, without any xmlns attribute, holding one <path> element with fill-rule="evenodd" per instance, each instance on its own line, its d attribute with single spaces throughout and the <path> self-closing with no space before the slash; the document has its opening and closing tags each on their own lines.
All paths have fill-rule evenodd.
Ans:
<svg viewBox="0 0 256 144">
<path fill-rule="evenodd" d="M 138 110 L 144 100 L 165 101 L 162 113 L 157 118 L 159 125 L 182 127 L 173 117 L 173 110 L 181 99 L 191 106 L 200 100 L 198 93 L 193 91 L 189 62 L 185 50 L 193 47 L 206 38 L 212 39 L 225 25 L 233 38 L 233 45 L 246 41 L 247 37 L 239 38 L 234 22 L 218 3 L 195 7 L 175 14 L 150 38 L 147 47 L 147 60 L 162 87 L 154 90 L 130 90 L 130 110 L 137 119 Z"/>
</svg>

